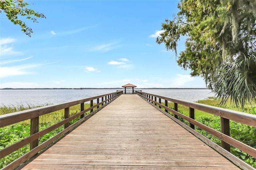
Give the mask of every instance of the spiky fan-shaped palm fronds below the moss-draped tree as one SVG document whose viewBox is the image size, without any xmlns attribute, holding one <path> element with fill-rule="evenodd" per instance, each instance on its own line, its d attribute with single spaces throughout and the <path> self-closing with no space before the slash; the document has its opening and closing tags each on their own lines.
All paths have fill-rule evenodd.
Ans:
<svg viewBox="0 0 256 170">
<path fill-rule="evenodd" d="M 224 105 L 228 98 L 236 105 L 256 102 L 256 53 L 240 55 L 234 62 L 223 63 L 212 80 L 212 89 Z"/>
</svg>

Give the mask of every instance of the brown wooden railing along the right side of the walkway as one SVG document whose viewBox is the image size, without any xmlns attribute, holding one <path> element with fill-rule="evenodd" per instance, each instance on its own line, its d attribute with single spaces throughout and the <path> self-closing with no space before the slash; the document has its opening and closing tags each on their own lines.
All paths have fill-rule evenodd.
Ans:
<svg viewBox="0 0 256 170">
<path fill-rule="evenodd" d="M 154 95 L 150 93 L 144 93 L 142 91 L 136 91 L 136 94 L 140 95 L 143 99 L 148 101 L 148 103 L 152 104 L 155 106 L 157 109 L 162 111 L 165 115 L 182 125 L 184 128 L 195 134 L 197 137 L 201 138 L 204 142 L 208 143 L 210 146 L 212 146 L 214 149 L 216 149 L 218 152 L 223 154 L 226 157 L 230 158 L 230 145 L 234 146 L 235 148 L 238 148 L 239 150 L 242 150 L 243 152 L 246 152 L 250 156 L 256 158 L 256 149 L 252 148 L 251 146 L 248 146 L 232 137 L 230 137 L 230 120 L 238 122 L 238 123 L 243 123 L 252 127 L 256 127 L 256 115 L 248 114 L 248 113 L 242 113 L 238 111 L 232 111 L 229 109 L 222 109 L 219 107 L 213 107 L 209 105 L 204 105 L 200 103 L 194 103 L 194 102 L 187 102 L 187 101 L 182 101 L 178 99 L 172 99 L 169 97 L 164 97 L 164 96 L 159 96 L 159 95 Z M 171 109 L 168 107 L 168 103 L 173 102 L 174 103 L 174 109 Z M 164 103 L 164 105 L 162 104 Z M 178 104 L 179 105 L 184 105 L 189 108 L 189 117 L 186 115 L 183 115 L 178 112 Z M 164 109 L 164 111 L 162 110 Z M 204 111 L 206 113 L 210 113 L 213 115 L 216 115 L 220 117 L 220 125 L 221 125 L 221 131 L 214 130 L 213 128 L 210 128 L 198 121 L 195 121 L 195 109 Z M 171 116 L 169 113 L 173 113 L 174 116 Z M 178 121 L 178 117 L 181 117 L 185 119 L 186 121 L 189 122 L 189 128 L 188 126 L 184 125 L 184 123 Z M 198 132 L 196 132 L 194 129 L 196 127 L 201 128 L 202 130 L 205 130 L 206 132 L 216 136 L 221 140 L 221 146 L 223 149 L 218 149 L 219 146 L 216 145 L 215 143 L 211 142 Z M 249 166 L 248 164 L 241 162 L 240 160 L 236 159 L 236 157 L 231 156 L 230 158 L 234 163 L 238 164 L 240 167 L 244 169 L 251 169 L 252 167 Z"/>
</svg>

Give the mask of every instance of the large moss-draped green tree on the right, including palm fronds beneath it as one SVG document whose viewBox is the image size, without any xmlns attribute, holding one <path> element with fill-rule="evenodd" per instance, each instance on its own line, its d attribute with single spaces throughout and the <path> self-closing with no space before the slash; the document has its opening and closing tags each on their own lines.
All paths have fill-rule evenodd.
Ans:
<svg viewBox="0 0 256 170">
<path fill-rule="evenodd" d="M 174 50 L 178 65 L 202 76 L 225 104 L 256 102 L 256 2 L 180 0 L 173 20 L 165 20 L 157 43 Z M 180 37 L 185 49 L 177 54 Z"/>
</svg>

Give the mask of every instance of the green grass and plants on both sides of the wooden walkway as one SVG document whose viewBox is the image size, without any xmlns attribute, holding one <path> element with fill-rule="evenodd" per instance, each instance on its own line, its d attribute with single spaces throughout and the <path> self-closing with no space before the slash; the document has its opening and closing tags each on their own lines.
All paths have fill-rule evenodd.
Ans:
<svg viewBox="0 0 256 170">
<path fill-rule="evenodd" d="M 213 97 L 210 97 L 205 100 L 197 101 L 197 103 L 202 103 L 202 104 L 216 106 L 216 107 L 222 107 L 222 108 L 236 110 L 236 111 L 242 111 L 242 112 L 256 115 L 256 105 L 246 105 L 244 108 L 242 108 L 242 107 L 236 107 L 235 105 L 232 105 L 232 103 L 229 103 L 222 106 L 220 105 L 220 101 L 216 100 Z M 162 104 L 164 105 L 164 103 Z M 46 105 L 49 105 L 49 104 L 46 104 Z M 13 113 L 16 111 L 22 111 L 26 109 L 32 109 L 34 107 L 40 107 L 40 106 L 28 105 L 28 107 L 25 107 L 22 103 L 17 105 L 9 105 L 9 106 L 2 105 L 0 106 L 0 115 Z M 90 104 L 85 103 L 84 109 L 87 109 L 89 107 L 90 107 Z M 173 109 L 174 104 L 168 103 L 168 107 Z M 178 105 L 178 111 L 186 116 L 189 116 L 189 108 L 186 106 Z M 70 116 L 79 112 L 80 112 L 80 105 L 75 105 L 70 107 Z M 44 128 L 50 127 L 51 125 L 54 125 L 62 120 L 64 120 L 64 109 L 60 111 L 55 111 L 53 113 L 49 113 L 47 115 L 42 115 L 39 117 L 39 124 L 40 124 L 39 130 L 43 130 Z M 220 118 L 217 116 L 214 116 L 206 112 L 195 110 L 195 120 L 211 128 L 214 128 L 215 130 L 220 131 Z M 78 119 L 70 122 L 70 124 L 74 123 L 75 121 L 78 121 Z M 187 121 L 183 119 L 180 119 L 180 121 L 188 125 Z M 39 139 L 39 144 L 48 140 L 49 138 L 51 138 L 52 136 L 54 136 L 55 134 L 57 134 L 63 129 L 64 129 L 64 126 L 61 126 L 56 130 L 44 135 L 42 138 Z M 212 136 L 208 132 L 205 132 L 204 130 L 198 127 L 195 127 L 195 130 L 200 132 L 210 140 L 214 141 L 215 143 L 220 144 L 220 140 Z M 19 140 L 22 140 L 23 138 L 26 138 L 29 135 L 30 135 L 30 120 L 0 128 L 0 149 L 6 146 L 9 146 L 10 144 L 13 144 Z M 236 123 L 234 121 L 230 121 L 230 136 L 232 138 L 239 140 L 240 142 L 243 142 L 245 144 L 248 144 L 249 146 L 256 148 L 256 128 L 253 128 L 248 125 L 244 125 L 242 123 Z M 0 160 L 0 168 L 6 166 L 7 164 L 12 162 L 16 158 L 22 156 L 28 151 L 29 151 L 29 144 L 13 152 L 10 155 L 5 156 Z M 253 158 L 248 154 L 242 152 L 241 150 L 238 150 L 237 148 L 233 148 L 233 147 L 231 148 L 231 152 L 234 155 L 241 158 L 242 160 L 244 160 L 245 162 L 247 162 L 248 164 L 250 164 L 251 166 L 253 166 L 254 168 L 256 168 L 256 158 Z"/>
</svg>

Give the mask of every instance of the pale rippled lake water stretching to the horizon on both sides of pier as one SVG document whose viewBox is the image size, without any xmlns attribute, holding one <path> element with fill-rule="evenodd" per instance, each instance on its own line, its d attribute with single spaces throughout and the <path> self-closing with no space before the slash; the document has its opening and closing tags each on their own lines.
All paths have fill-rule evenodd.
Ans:
<svg viewBox="0 0 256 170">
<path fill-rule="evenodd" d="M 147 93 L 161 95 L 165 97 L 198 101 L 214 96 L 208 89 L 137 89 Z M 16 105 L 23 103 L 26 105 L 44 105 L 46 103 L 57 104 L 88 97 L 116 92 L 116 89 L 95 89 L 95 90 L 74 90 L 74 89 L 49 89 L 49 90 L 0 90 L 0 103 L 2 105 Z"/>
</svg>

